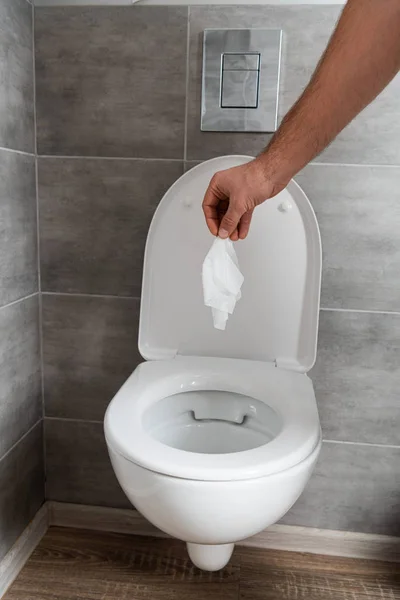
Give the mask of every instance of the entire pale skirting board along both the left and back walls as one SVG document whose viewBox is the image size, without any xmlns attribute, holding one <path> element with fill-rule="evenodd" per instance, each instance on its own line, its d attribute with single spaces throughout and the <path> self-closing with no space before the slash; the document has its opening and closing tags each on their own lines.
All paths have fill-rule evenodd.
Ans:
<svg viewBox="0 0 400 600">
<path fill-rule="evenodd" d="M 135 510 L 46 502 L 0 561 L 0 598 L 18 576 L 50 525 L 166 537 Z M 273 525 L 239 545 L 400 563 L 400 538 L 385 535 Z"/>
</svg>

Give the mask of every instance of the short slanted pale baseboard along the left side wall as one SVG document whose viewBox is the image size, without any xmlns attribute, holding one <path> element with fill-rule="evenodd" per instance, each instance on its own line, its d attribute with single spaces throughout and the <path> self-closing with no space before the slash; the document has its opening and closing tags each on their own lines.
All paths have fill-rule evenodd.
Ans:
<svg viewBox="0 0 400 600">
<path fill-rule="evenodd" d="M 0 598 L 4 596 L 49 526 L 47 503 L 36 513 L 11 550 L 0 561 Z"/>
</svg>

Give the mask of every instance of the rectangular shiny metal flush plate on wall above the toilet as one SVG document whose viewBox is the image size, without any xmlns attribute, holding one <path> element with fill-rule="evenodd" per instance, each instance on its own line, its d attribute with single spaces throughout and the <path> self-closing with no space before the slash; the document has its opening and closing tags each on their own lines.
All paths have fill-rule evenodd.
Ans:
<svg viewBox="0 0 400 600">
<path fill-rule="evenodd" d="M 205 30 L 202 131 L 276 130 L 281 40 L 278 29 Z"/>
</svg>

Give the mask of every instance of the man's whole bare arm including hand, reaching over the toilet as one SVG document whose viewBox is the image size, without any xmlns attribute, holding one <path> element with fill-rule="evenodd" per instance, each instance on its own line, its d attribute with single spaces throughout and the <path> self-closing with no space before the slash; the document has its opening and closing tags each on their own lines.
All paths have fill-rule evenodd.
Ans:
<svg viewBox="0 0 400 600">
<path fill-rule="evenodd" d="M 348 0 L 310 83 L 266 150 L 211 181 L 203 202 L 211 233 L 246 237 L 254 208 L 280 192 L 399 69 L 400 0 Z M 228 207 L 222 218 L 221 205 Z"/>
</svg>

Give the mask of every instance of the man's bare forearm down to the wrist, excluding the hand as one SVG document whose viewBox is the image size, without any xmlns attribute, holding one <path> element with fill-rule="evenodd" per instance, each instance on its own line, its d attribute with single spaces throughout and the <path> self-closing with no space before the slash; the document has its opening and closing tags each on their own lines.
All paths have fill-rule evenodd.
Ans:
<svg viewBox="0 0 400 600">
<path fill-rule="evenodd" d="M 349 0 L 309 85 L 258 159 L 266 177 L 286 184 L 399 69 L 400 0 Z"/>
</svg>

